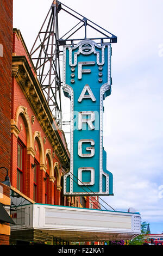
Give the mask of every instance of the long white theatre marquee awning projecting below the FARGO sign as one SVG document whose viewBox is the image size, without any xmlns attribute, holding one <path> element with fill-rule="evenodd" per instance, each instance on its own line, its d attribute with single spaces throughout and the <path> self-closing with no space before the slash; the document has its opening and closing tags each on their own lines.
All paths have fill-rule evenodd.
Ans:
<svg viewBox="0 0 163 256">
<path fill-rule="evenodd" d="M 66 241 L 130 240 L 141 234 L 137 212 L 34 204 L 17 210 L 12 231 L 33 229 Z"/>
</svg>

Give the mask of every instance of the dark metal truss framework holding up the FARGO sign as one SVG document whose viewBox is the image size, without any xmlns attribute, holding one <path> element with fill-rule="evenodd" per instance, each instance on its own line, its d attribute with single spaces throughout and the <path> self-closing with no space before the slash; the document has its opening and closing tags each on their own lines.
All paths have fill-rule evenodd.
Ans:
<svg viewBox="0 0 163 256">
<path fill-rule="evenodd" d="M 78 21 L 75 26 L 73 23 L 73 27 L 62 36 L 60 36 L 58 19 L 60 11 L 64 11 L 65 14 L 71 15 Z M 94 30 L 97 35 L 96 37 L 90 36 L 90 29 Z M 83 31 L 83 37 L 78 38 L 78 32 L 81 30 Z M 64 45 L 74 46 L 79 41 L 85 39 L 93 40 L 99 45 L 108 42 L 117 42 L 117 36 L 89 19 L 86 19 L 86 17 L 67 7 L 65 4 L 59 1 L 53 1 L 30 51 L 30 56 L 33 59 L 37 71 L 37 78 L 60 129 L 62 129 L 62 78 L 59 57 L 62 56 L 62 47 Z"/>
</svg>

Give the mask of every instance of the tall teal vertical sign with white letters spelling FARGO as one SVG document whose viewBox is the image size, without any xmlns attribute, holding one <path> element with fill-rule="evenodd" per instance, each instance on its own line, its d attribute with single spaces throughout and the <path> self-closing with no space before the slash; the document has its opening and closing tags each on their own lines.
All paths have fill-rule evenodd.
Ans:
<svg viewBox="0 0 163 256">
<path fill-rule="evenodd" d="M 64 94 L 71 100 L 70 171 L 65 196 L 112 195 L 103 149 L 103 101 L 111 93 L 111 45 L 64 46 Z"/>
</svg>

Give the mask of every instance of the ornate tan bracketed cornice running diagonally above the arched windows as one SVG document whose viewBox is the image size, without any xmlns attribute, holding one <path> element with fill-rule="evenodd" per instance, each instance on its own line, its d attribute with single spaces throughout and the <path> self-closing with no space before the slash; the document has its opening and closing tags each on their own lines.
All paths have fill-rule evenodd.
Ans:
<svg viewBox="0 0 163 256">
<path fill-rule="evenodd" d="M 24 56 L 12 56 L 12 76 L 20 85 L 24 95 L 26 96 L 30 106 L 35 113 L 37 120 L 46 133 L 47 138 L 59 157 L 60 162 L 66 167 L 70 166 L 70 157 L 61 141 L 59 132 L 54 129 L 54 118 L 48 103 L 43 95 L 39 81 L 34 77 L 33 72 Z M 14 127 L 14 126 L 13 126 Z M 55 127 L 57 124 L 55 123 Z"/>
</svg>

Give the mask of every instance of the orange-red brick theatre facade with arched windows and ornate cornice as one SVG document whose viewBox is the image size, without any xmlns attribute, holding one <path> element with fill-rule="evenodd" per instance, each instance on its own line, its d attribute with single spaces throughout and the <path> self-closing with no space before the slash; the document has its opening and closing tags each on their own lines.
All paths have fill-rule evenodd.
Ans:
<svg viewBox="0 0 163 256">
<path fill-rule="evenodd" d="M 90 204 L 88 197 L 64 197 L 63 176 L 70 166 L 65 135 L 49 109 L 17 29 L 12 51 L 11 190 L 32 204 L 97 209 L 97 202 Z M 22 236 L 13 232 L 12 241 L 15 234 Z"/>
</svg>

